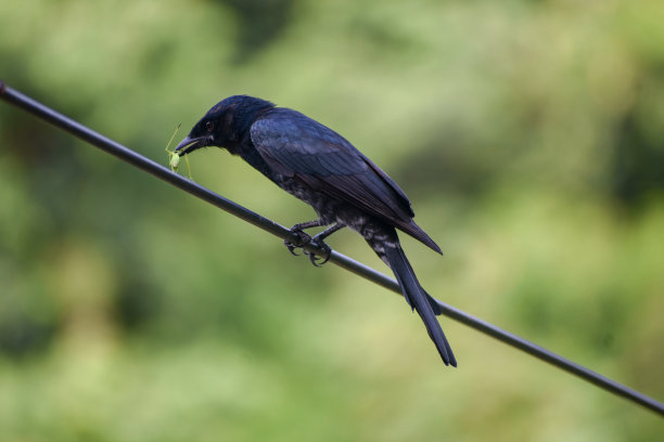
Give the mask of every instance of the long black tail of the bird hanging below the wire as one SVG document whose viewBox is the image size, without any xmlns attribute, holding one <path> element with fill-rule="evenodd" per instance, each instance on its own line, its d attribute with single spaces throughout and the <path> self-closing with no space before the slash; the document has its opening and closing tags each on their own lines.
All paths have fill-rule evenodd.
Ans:
<svg viewBox="0 0 664 442">
<path fill-rule="evenodd" d="M 394 233 L 394 237 L 396 240 L 384 242 L 382 244 L 383 247 L 380 249 L 374 248 L 374 250 L 394 272 L 399 286 L 401 287 L 406 301 L 408 301 L 410 307 L 418 312 L 424 322 L 426 332 L 429 332 L 431 340 L 436 344 L 438 353 L 440 353 L 440 358 L 443 359 L 445 365 L 456 367 L 457 360 L 455 359 L 455 354 L 452 353 L 451 348 L 447 342 L 447 338 L 440 328 L 440 324 L 436 320 L 436 315 L 430 303 L 429 296 L 418 282 L 414 271 L 412 270 L 412 266 L 410 266 L 410 262 L 408 262 L 408 259 L 399 245 L 398 238 L 396 237 L 396 232 Z"/>
</svg>

